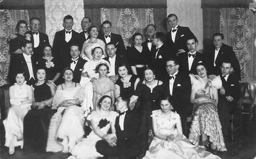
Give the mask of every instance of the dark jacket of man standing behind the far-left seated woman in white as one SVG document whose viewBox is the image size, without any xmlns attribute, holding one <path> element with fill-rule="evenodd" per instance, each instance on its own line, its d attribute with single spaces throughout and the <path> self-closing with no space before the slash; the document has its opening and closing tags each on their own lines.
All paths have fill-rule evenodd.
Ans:
<svg viewBox="0 0 256 159">
<path fill-rule="evenodd" d="M 34 78 L 37 78 L 37 62 L 35 60 L 35 56 L 31 56 L 31 63 L 32 63 L 32 69 L 33 69 L 33 75 Z M 26 74 L 26 81 L 30 80 L 30 71 L 28 71 L 28 65 L 26 63 L 26 60 L 23 56 L 23 54 L 12 54 L 12 58 L 10 61 L 10 70 L 9 70 L 9 79 L 10 83 L 15 83 L 15 74 L 18 71 L 24 71 Z"/>
</svg>

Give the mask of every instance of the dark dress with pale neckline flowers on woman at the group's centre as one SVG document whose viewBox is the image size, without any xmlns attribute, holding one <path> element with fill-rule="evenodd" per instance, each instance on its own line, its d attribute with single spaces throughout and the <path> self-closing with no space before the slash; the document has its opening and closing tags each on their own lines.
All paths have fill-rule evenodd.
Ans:
<svg viewBox="0 0 256 159">
<path fill-rule="evenodd" d="M 132 75 L 128 83 L 124 83 L 121 78 L 118 78 L 115 82 L 116 85 L 120 87 L 120 96 L 130 98 L 134 92 L 134 84 L 136 79 L 139 78 L 136 75 Z"/>
</svg>

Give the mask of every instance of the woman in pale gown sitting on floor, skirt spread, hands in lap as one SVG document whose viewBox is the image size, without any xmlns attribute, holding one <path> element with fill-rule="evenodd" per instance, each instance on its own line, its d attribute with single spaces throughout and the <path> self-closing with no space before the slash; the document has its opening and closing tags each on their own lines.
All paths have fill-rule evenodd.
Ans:
<svg viewBox="0 0 256 159">
<path fill-rule="evenodd" d="M 152 124 L 155 137 L 144 159 L 184 159 L 184 158 L 205 158 L 219 159 L 208 151 L 194 146 L 182 134 L 180 115 L 173 112 L 171 96 L 164 96 L 160 99 L 160 110 L 152 112 Z"/>
</svg>

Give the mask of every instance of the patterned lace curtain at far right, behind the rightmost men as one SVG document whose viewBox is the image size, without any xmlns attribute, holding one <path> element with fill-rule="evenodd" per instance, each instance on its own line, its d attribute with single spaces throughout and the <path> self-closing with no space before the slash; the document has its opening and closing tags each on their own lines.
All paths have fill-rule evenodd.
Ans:
<svg viewBox="0 0 256 159">
<path fill-rule="evenodd" d="M 240 62 L 242 81 L 255 79 L 255 26 L 255 17 L 250 9 L 221 9 L 220 31 L 225 36 L 225 43 L 233 46 Z"/>
</svg>

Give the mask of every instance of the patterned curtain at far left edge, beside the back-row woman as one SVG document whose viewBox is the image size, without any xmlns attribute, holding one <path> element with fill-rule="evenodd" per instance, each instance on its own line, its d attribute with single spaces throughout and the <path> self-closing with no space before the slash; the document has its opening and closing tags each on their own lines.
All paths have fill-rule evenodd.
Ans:
<svg viewBox="0 0 256 159">
<path fill-rule="evenodd" d="M 10 64 L 9 44 L 10 34 L 16 33 L 16 24 L 25 20 L 29 24 L 28 10 L 0 10 L 0 86 L 7 84 Z"/>
</svg>

